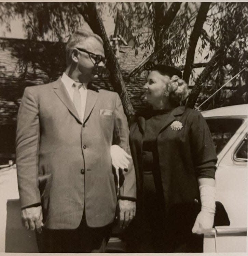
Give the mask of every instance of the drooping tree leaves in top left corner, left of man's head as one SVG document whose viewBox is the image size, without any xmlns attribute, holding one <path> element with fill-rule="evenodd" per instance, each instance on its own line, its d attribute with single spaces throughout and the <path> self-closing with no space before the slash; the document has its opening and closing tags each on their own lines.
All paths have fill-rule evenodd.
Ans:
<svg viewBox="0 0 248 256">
<path fill-rule="evenodd" d="M 1 3 L 0 23 L 10 27 L 16 16 L 22 19 L 28 39 L 61 41 L 84 22 L 74 2 Z M 10 11 L 11 10 L 11 11 Z"/>
</svg>

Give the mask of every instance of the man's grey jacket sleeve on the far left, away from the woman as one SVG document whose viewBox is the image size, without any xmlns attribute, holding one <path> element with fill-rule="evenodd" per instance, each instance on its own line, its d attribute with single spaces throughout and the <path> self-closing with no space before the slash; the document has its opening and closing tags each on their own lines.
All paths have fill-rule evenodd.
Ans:
<svg viewBox="0 0 248 256">
<path fill-rule="evenodd" d="M 39 205 L 39 108 L 31 88 L 26 88 L 17 115 L 16 166 L 21 207 Z"/>
</svg>

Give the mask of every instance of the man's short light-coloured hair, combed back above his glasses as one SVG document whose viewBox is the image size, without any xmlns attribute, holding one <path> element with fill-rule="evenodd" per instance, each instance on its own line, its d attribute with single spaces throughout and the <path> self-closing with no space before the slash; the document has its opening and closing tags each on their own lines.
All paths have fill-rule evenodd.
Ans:
<svg viewBox="0 0 248 256">
<path fill-rule="evenodd" d="M 78 43 L 81 43 L 83 45 L 84 41 L 89 38 L 94 37 L 97 39 L 100 43 L 103 44 L 102 39 L 95 33 L 85 31 L 85 30 L 78 30 L 71 34 L 70 38 L 68 39 L 66 43 L 66 63 L 69 65 L 71 63 L 71 52 L 72 49 L 77 46 Z"/>
</svg>

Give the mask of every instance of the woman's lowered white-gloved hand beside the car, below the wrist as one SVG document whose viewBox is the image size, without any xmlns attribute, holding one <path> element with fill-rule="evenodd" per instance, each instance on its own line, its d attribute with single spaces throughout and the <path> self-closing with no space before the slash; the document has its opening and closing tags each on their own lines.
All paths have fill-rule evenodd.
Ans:
<svg viewBox="0 0 248 256">
<path fill-rule="evenodd" d="M 201 211 L 198 213 L 192 233 L 203 234 L 204 231 L 209 230 L 213 227 L 213 219 L 215 214 Z"/>
</svg>

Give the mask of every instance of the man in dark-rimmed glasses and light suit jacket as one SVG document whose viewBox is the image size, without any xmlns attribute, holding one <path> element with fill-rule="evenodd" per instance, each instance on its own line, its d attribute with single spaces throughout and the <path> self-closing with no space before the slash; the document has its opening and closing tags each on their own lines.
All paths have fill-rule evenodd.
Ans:
<svg viewBox="0 0 248 256">
<path fill-rule="evenodd" d="M 117 93 L 87 88 L 106 62 L 101 38 L 72 34 L 66 60 L 63 76 L 26 88 L 19 108 L 22 221 L 37 230 L 40 252 L 104 252 L 117 202 L 111 157 L 127 167 L 118 155 L 130 152 L 128 124 Z M 132 161 L 123 175 L 118 205 L 125 228 L 135 216 Z"/>
</svg>

